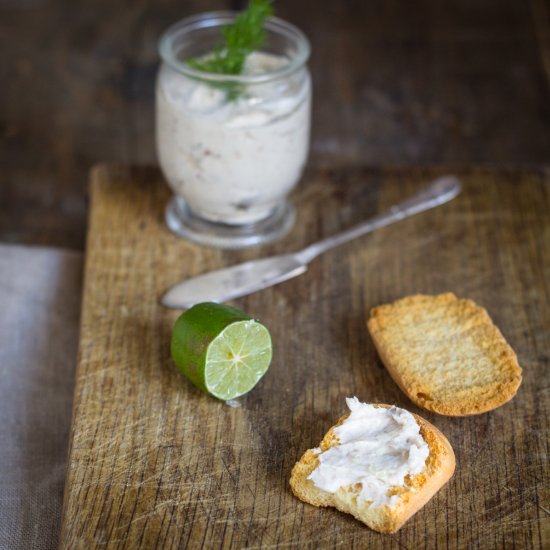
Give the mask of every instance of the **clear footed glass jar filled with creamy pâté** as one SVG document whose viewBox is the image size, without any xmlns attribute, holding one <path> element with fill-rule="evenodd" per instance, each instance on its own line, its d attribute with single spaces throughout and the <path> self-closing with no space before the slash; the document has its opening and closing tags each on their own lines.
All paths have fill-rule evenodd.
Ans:
<svg viewBox="0 0 550 550">
<path fill-rule="evenodd" d="M 296 27 L 268 19 L 265 44 L 241 75 L 186 63 L 218 47 L 235 16 L 204 13 L 170 27 L 156 88 L 157 153 L 174 192 L 167 224 L 220 248 L 270 242 L 291 228 L 288 195 L 309 149 L 310 47 Z"/>
</svg>

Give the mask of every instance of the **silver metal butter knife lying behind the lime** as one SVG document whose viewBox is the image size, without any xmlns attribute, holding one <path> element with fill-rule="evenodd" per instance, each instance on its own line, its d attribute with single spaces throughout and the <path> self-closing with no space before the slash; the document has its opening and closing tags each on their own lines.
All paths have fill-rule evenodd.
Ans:
<svg viewBox="0 0 550 550">
<path fill-rule="evenodd" d="M 386 212 L 298 252 L 252 260 L 186 279 L 173 286 L 162 297 L 161 303 L 166 307 L 185 309 L 199 302 L 225 302 L 276 285 L 304 273 L 309 262 L 323 252 L 380 227 L 444 204 L 456 197 L 460 190 L 460 181 L 455 176 L 439 178 Z"/>
</svg>

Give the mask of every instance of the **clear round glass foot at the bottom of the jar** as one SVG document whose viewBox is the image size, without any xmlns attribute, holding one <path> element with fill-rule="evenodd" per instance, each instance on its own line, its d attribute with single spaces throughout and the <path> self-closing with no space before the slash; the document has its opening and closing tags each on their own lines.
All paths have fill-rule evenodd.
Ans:
<svg viewBox="0 0 550 550">
<path fill-rule="evenodd" d="M 216 223 L 198 217 L 181 197 L 172 197 L 166 206 L 166 224 L 172 233 L 194 243 L 238 250 L 271 243 L 286 235 L 296 219 L 289 201 L 278 205 L 266 219 L 246 225 Z"/>
</svg>

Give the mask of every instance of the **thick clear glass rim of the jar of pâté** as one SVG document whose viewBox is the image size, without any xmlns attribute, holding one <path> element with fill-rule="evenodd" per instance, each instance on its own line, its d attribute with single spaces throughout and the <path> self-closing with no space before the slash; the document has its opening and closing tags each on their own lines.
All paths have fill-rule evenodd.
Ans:
<svg viewBox="0 0 550 550">
<path fill-rule="evenodd" d="M 239 82 L 241 84 L 260 84 L 271 80 L 283 78 L 307 63 L 311 53 L 311 46 L 306 35 L 298 27 L 279 19 L 269 17 L 266 20 L 265 28 L 279 35 L 283 35 L 296 43 L 296 53 L 284 66 L 274 71 L 256 75 L 231 75 L 208 73 L 194 69 L 184 61 L 179 60 L 174 52 L 174 39 L 181 33 L 189 30 L 206 29 L 211 27 L 222 27 L 235 19 L 239 12 L 236 11 L 209 11 L 180 19 L 168 27 L 161 35 L 158 43 L 159 55 L 163 62 L 177 72 L 183 73 L 191 78 L 209 82 Z"/>
</svg>

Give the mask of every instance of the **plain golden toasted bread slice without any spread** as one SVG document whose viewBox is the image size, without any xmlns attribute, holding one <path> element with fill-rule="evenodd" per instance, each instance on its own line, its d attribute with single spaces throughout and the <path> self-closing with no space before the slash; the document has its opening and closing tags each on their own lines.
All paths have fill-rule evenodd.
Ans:
<svg viewBox="0 0 550 550">
<path fill-rule="evenodd" d="M 375 307 L 368 329 L 392 378 L 429 411 L 490 411 L 521 384 L 516 354 L 472 300 L 452 293 L 409 296 Z"/>
</svg>

